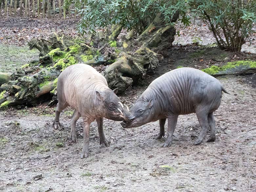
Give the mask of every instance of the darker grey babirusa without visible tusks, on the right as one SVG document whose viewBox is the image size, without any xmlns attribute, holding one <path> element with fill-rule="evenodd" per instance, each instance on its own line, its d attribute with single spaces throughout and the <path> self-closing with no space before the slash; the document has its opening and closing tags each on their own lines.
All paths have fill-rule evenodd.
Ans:
<svg viewBox="0 0 256 192">
<path fill-rule="evenodd" d="M 214 141 L 216 111 L 226 90 L 211 75 L 193 68 L 180 68 L 170 71 L 155 79 L 139 97 L 131 109 L 130 121 L 123 121 L 124 128 L 139 127 L 148 122 L 159 120 L 160 133 L 157 139 L 164 136 L 164 124 L 168 119 L 167 139 L 163 147 L 172 143 L 172 136 L 179 115 L 196 113 L 201 126 L 199 138 L 194 142 L 200 144 L 210 127 L 210 137 Z"/>
</svg>

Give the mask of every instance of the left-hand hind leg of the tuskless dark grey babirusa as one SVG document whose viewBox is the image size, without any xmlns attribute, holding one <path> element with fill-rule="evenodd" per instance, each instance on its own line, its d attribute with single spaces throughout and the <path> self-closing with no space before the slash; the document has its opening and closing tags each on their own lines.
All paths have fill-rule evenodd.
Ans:
<svg viewBox="0 0 256 192">
<path fill-rule="evenodd" d="M 204 110 L 196 114 L 197 114 L 199 124 L 201 126 L 201 133 L 198 139 L 194 142 L 194 145 L 199 145 L 200 143 L 202 143 L 203 139 L 205 138 L 206 132 L 209 129 L 209 122 L 208 122 L 208 113 L 205 113 Z"/>
</svg>

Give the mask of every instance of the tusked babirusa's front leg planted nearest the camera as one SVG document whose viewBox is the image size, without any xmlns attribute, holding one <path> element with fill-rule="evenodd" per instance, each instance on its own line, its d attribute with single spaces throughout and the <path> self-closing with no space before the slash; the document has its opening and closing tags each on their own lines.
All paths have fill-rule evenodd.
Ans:
<svg viewBox="0 0 256 192">
<path fill-rule="evenodd" d="M 89 136 L 90 136 L 90 121 L 88 118 L 83 117 L 83 132 L 84 132 L 84 140 L 83 140 L 83 149 L 81 153 L 81 159 L 87 158 L 89 155 Z"/>
</svg>

